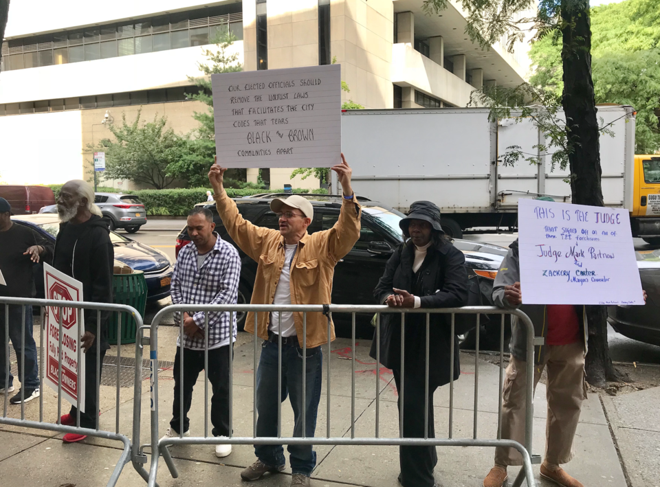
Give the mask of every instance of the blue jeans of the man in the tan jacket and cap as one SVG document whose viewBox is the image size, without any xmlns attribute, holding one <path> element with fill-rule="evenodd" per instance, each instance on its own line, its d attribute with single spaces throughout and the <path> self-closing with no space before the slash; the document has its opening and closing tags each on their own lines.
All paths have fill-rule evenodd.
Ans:
<svg viewBox="0 0 660 487">
<path fill-rule="evenodd" d="M 256 435 L 277 436 L 277 343 L 264 341 L 261 345 L 259 370 L 256 372 Z M 321 398 L 321 370 L 323 354 L 320 347 L 307 349 L 305 396 L 305 434 L 313 438 L 316 431 L 316 412 Z M 303 436 L 303 350 L 296 346 L 282 346 L 282 397 L 290 398 L 294 409 L 294 437 Z M 316 452 L 311 445 L 289 445 L 292 473 L 311 477 L 316 466 Z M 282 445 L 254 445 L 254 454 L 268 466 L 286 463 Z"/>
</svg>

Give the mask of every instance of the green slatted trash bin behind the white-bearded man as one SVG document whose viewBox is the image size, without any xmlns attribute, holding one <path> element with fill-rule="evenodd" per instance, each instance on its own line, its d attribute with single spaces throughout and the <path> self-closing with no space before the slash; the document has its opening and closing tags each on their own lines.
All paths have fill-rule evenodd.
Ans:
<svg viewBox="0 0 660 487">
<path fill-rule="evenodd" d="M 132 274 L 115 274 L 112 278 L 113 303 L 133 306 L 142 317 L 146 307 L 146 280 L 142 271 Z M 117 344 L 118 313 L 112 313 L 108 324 L 108 342 Z M 120 313 L 122 322 L 122 343 L 135 343 L 137 323 L 129 313 Z"/>
</svg>

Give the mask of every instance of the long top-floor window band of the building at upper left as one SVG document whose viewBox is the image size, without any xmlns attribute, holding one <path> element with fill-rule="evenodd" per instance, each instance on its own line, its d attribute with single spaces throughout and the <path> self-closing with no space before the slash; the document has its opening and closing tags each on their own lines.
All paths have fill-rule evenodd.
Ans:
<svg viewBox="0 0 660 487">
<path fill-rule="evenodd" d="M 12 39 L 2 43 L 0 70 L 63 65 L 115 56 L 206 45 L 214 29 L 243 40 L 241 3 L 201 8 L 131 22 Z M 263 3 L 265 12 L 265 3 Z M 265 29 L 265 15 L 264 15 Z M 265 43 L 265 34 L 264 34 Z"/>
</svg>

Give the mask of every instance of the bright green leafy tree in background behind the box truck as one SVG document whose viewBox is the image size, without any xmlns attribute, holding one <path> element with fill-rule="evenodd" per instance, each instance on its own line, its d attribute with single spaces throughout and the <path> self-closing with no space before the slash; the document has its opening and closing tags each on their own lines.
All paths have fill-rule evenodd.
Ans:
<svg viewBox="0 0 660 487">
<path fill-rule="evenodd" d="M 596 103 L 630 104 L 637 110 L 635 152 L 660 150 L 660 3 L 626 0 L 591 9 Z M 553 36 L 533 43 L 531 84 L 561 93 L 561 46 Z"/>
</svg>

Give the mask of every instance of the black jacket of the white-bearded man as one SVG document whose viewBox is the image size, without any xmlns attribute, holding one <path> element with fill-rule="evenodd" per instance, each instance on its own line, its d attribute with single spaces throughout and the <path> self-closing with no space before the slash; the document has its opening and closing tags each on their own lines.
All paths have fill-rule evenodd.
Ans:
<svg viewBox="0 0 660 487">
<path fill-rule="evenodd" d="M 115 253 L 110 241 L 107 220 L 92 215 L 76 228 L 75 240 L 67 238 L 73 231 L 71 223 L 62 223 L 55 240 L 53 267 L 83 283 L 83 299 L 95 303 L 112 302 L 112 275 Z M 68 248 L 65 248 L 68 247 Z M 72 260 L 69 261 L 73 253 Z M 85 310 L 85 331 L 97 334 L 98 312 Z M 101 312 L 101 350 L 110 348 L 107 340 L 108 321 L 111 313 Z M 98 338 L 98 337 L 97 337 Z M 91 351 L 96 352 L 96 340 Z"/>
</svg>

